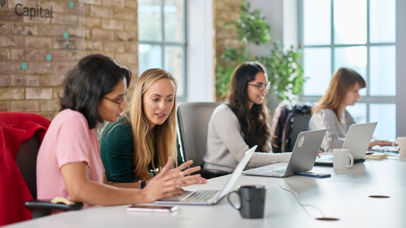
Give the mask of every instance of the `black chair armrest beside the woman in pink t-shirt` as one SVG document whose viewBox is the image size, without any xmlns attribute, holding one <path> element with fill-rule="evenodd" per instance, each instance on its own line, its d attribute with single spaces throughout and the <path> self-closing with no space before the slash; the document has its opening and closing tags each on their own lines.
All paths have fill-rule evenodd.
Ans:
<svg viewBox="0 0 406 228">
<path fill-rule="evenodd" d="M 75 202 L 73 205 L 63 203 L 54 204 L 51 200 L 30 200 L 24 203 L 24 206 L 31 211 L 32 218 L 50 215 L 58 211 L 76 211 L 83 207 L 83 203 Z"/>
</svg>

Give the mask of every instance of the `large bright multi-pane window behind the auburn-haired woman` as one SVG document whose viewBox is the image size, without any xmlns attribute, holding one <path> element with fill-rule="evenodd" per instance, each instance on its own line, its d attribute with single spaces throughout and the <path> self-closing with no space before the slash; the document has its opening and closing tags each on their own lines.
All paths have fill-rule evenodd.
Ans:
<svg viewBox="0 0 406 228">
<path fill-rule="evenodd" d="M 395 0 L 302 0 L 304 83 L 300 101 L 316 102 L 340 67 L 367 82 L 348 112 L 357 123 L 378 122 L 374 136 L 394 139 Z"/>
</svg>

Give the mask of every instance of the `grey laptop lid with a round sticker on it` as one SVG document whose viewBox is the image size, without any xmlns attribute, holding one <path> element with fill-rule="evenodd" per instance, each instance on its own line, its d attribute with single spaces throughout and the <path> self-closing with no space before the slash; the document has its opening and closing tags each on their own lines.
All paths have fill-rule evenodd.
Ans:
<svg viewBox="0 0 406 228">
<path fill-rule="evenodd" d="M 283 176 L 311 170 L 325 134 L 326 129 L 300 132 Z"/>
</svg>

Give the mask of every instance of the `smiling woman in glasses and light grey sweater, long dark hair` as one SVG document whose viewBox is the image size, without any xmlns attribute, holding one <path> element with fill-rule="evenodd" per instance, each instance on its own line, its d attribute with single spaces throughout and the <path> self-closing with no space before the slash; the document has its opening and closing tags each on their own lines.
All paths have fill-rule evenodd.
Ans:
<svg viewBox="0 0 406 228">
<path fill-rule="evenodd" d="M 270 82 L 259 62 L 245 62 L 233 72 L 227 101 L 209 121 L 204 168 L 232 172 L 244 152 L 258 145 L 247 168 L 289 161 L 292 153 L 274 154 L 270 147 L 268 109 L 264 97 Z"/>
</svg>

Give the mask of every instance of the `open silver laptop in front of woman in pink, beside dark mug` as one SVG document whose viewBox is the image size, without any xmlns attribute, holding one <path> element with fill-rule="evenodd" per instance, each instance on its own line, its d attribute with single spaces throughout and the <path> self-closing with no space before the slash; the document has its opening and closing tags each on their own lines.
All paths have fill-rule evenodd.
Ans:
<svg viewBox="0 0 406 228">
<path fill-rule="evenodd" d="M 194 205 L 213 205 L 220 201 L 225 195 L 227 195 L 238 177 L 240 176 L 242 170 L 244 170 L 248 161 L 251 159 L 254 154 L 257 146 L 249 149 L 244 153 L 244 156 L 240 162 L 235 167 L 233 174 L 231 174 L 230 179 L 227 181 L 226 185 L 222 190 L 195 190 L 195 189 L 186 189 L 184 193 L 180 196 L 173 196 L 164 198 L 162 200 L 157 200 L 157 204 L 194 204 Z"/>
</svg>

